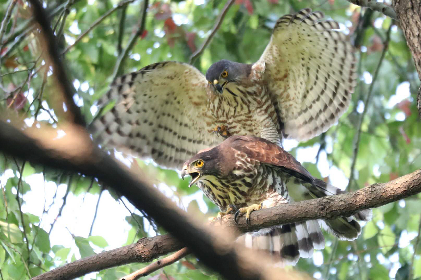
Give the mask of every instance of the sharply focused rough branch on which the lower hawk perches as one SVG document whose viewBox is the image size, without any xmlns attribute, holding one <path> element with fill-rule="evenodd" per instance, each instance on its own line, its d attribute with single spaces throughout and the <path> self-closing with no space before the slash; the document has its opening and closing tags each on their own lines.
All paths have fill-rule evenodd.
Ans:
<svg viewBox="0 0 421 280">
<path fill-rule="evenodd" d="M 251 227 L 246 224 L 245 218 L 243 217 L 239 219 L 239 224 L 236 225 L 234 222 L 234 215 L 222 217 L 221 223 L 216 222 L 215 226 L 219 227 L 221 230 L 225 230 L 227 227 L 233 228 L 238 230 L 240 234 L 240 232 L 248 232 L 250 230 L 258 230 L 272 225 L 288 224 L 308 219 L 332 219 L 341 215 L 347 216 L 362 209 L 378 207 L 398 201 L 420 192 L 421 169 L 418 169 L 415 172 L 399 177 L 393 181 L 373 184 L 352 193 L 326 196 L 324 198 L 254 211 L 250 215 Z M 139 243 L 141 243 L 141 246 L 136 245 Z M 121 264 L 150 262 L 152 259 L 176 251 L 181 247 L 181 243 L 169 235 L 142 238 L 132 245 L 89 256 L 70 264 L 65 264 L 44 275 L 67 275 L 67 277 L 63 279 L 73 279 L 83 275 L 80 271 L 88 273 Z M 130 250 L 128 250 L 129 248 Z M 123 256 L 123 252 L 125 252 L 127 256 Z M 111 264 L 113 259 L 115 259 L 115 264 Z M 36 277 L 35 279 L 49 280 L 56 278 Z"/>
</svg>

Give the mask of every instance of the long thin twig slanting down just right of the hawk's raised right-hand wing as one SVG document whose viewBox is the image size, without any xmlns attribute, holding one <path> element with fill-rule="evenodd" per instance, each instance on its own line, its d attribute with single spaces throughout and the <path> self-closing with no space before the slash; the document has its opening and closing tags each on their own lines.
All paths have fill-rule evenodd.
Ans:
<svg viewBox="0 0 421 280">
<path fill-rule="evenodd" d="M 361 130 L 362 121 L 364 119 L 365 114 L 367 113 L 368 104 L 370 103 L 371 94 L 373 93 L 374 83 L 376 82 L 376 79 L 378 77 L 378 72 L 380 70 L 381 63 L 383 62 L 384 55 L 386 54 L 386 50 L 387 50 L 387 48 L 389 46 L 390 31 L 392 30 L 392 25 L 393 25 L 393 23 L 391 23 L 389 25 L 389 29 L 387 29 L 386 41 L 384 41 L 384 43 L 383 43 L 384 44 L 383 52 L 381 53 L 380 59 L 379 59 L 378 64 L 377 64 L 376 71 L 374 72 L 373 79 L 371 80 L 370 87 L 368 88 L 367 96 L 366 96 L 366 98 L 364 100 L 364 110 L 362 111 L 362 113 L 360 115 L 360 118 L 358 119 L 358 124 L 356 126 L 356 127 L 358 127 L 358 131 L 354 135 L 354 139 L 352 140 L 352 147 L 354 148 L 354 156 L 352 158 L 352 164 L 351 164 L 351 168 L 350 168 L 349 181 L 348 181 L 348 185 L 346 186 L 346 190 L 350 190 L 349 187 L 351 186 L 352 181 L 354 180 L 355 163 L 357 162 L 357 154 L 358 154 L 358 150 L 360 148 L 359 146 L 360 146 L 361 132 L 362 132 L 362 130 Z"/>
</svg>

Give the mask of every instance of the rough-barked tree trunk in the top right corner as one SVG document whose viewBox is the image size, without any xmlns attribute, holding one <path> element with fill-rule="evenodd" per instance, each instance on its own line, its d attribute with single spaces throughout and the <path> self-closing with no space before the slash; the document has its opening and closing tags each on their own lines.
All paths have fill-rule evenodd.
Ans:
<svg viewBox="0 0 421 280">
<path fill-rule="evenodd" d="M 394 0 L 392 5 L 400 21 L 406 44 L 415 61 L 418 78 L 421 80 L 421 1 Z M 417 108 L 421 118 L 421 86 L 418 89 Z"/>
</svg>

